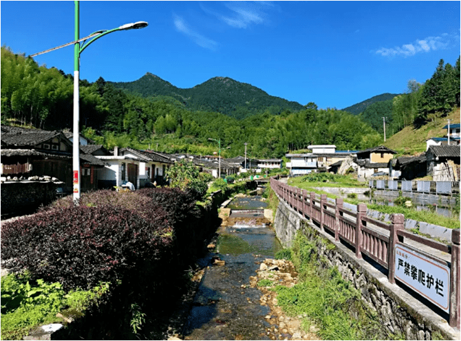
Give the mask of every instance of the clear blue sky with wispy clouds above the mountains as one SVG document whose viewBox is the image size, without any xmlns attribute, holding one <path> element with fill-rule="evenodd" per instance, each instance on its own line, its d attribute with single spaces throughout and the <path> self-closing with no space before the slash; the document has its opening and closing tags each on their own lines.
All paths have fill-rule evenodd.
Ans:
<svg viewBox="0 0 461 341">
<path fill-rule="evenodd" d="M 424 83 L 460 56 L 460 1 L 81 1 L 81 78 L 147 72 L 189 88 L 226 76 L 272 96 L 343 109 Z M 26 55 L 74 41 L 74 1 L 1 1 L 1 45 Z M 72 46 L 34 59 L 74 71 Z"/>
</svg>

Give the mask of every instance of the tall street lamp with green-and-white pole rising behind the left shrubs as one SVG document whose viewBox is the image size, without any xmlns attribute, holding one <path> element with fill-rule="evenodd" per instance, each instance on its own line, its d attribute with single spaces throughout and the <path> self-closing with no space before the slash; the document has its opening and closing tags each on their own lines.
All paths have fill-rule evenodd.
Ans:
<svg viewBox="0 0 461 341">
<path fill-rule="evenodd" d="M 148 23 L 146 21 L 138 21 L 136 23 L 127 23 L 125 25 L 121 25 L 118 28 L 114 28 L 112 30 L 100 30 L 96 31 L 89 36 L 85 36 L 85 38 L 80 39 L 80 8 L 79 8 L 79 1 L 74 0 L 75 5 L 75 41 L 71 43 L 67 43 L 58 47 L 54 47 L 50 50 L 46 50 L 43 52 L 39 52 L 37 54 L 32 54 L 31 57 L 38 56 L 39 54 L 44 54 L 46 52 L 58 50 L 61 47 L 69 46 L 74 44 L 74 130 L 73 130 L 73 148 L 72 148 L 72 169 L 73 169 L 73 184 L 74 184 L 74 202 L 77 203 L 78 199 L 80 199 L 80 132 L 78 131 L 78 124 L 79 124 L 79 116 L 80 116 L 80 107 L 79 107 L 79 75 L 80 75 L 80 54 L 85 50 L 89 44 L 93 43 L 97 39 L 100 39 L 101 36 L 105 36 L 106 34 L 122 31 L 122 30 L 133 30 L 138 28 L 145 28 Z M 90 39 L 87 43 L 85 41 Z M 80 42 L 83 41 L 82 46 Z"/>
</svg>

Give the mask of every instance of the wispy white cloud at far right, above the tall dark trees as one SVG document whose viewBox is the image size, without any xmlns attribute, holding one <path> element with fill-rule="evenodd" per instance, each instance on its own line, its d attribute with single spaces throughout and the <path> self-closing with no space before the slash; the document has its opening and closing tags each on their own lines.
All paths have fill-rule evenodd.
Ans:
<svg viewBox="0 0 461 341">
<path fill-rule="evenodd" d="M 459 43 L 459 36 L 457 34 L 443 33 L 440 36 L 428 36 L 425 39 L 417 39 L 414 43 L 404 44 L 402 47 L 381 47 L 380 49 L 372 52 L 385 57 L 409 57 L 414 56 L 419 52 L 443 50 L 454 43 Z"/>
</svg>

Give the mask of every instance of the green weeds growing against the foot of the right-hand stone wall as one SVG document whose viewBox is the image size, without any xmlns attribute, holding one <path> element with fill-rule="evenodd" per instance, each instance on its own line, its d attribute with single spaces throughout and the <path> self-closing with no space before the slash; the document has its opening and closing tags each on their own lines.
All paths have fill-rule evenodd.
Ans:
<svg viewBox="0 0 461 341">
<path fill-rule="evenodd" d="M 317 334 L 322 340 L 400 338 L 383 335 L 376 313 L 365 307 L 360 292 L 343 280 L 336 267 L 321 269 L 314 241 L 298 232 L 292 248 L 277 252 L 276 258 L 290 258 L 299 273 L 300 283 L 290 288 L 278 285 L 275 292 L 287 314 L 307 316 L 302 322 L 305 331 L 312 321 L 320 329 Z"/>
</svg>

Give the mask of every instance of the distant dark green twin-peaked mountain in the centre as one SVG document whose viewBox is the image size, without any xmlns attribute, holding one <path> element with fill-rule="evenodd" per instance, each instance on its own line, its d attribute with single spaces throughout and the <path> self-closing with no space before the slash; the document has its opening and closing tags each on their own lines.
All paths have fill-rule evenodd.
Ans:
<svg viewBox="0 0 461 341">
<path fill-rule="evenodd" d="M 193 111 L 217 111 L 237 119 L 266 110 L 272 114 L 278 114 L 286 110 L 295 112 L 304 109 L 298 102 L 270 96 L 253 85 L 228 77 L 214 77 L 195 87 L 180 89 L 148 72 L 133 82 L 112 84 L 119 89 L 125 89 L 144 97 L 170 96 L 180 100 Z"/>
</svg>

